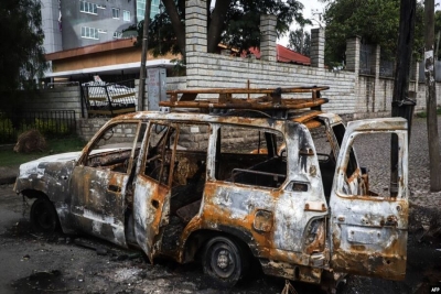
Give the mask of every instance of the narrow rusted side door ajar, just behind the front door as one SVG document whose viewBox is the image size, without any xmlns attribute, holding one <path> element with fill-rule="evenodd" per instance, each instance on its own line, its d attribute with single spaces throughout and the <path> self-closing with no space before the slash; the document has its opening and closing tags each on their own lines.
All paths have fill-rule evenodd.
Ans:
<svg viewBox="0 0 441 294">
<path fill-rule="evenodd" d="M 178 130 L 168 122 L 151 122 L 146 154 L 136 178 L 133 197 L 135 236 L 150 261 L 160 228 L 169 221 L 170 194 Z"/>
</svg>

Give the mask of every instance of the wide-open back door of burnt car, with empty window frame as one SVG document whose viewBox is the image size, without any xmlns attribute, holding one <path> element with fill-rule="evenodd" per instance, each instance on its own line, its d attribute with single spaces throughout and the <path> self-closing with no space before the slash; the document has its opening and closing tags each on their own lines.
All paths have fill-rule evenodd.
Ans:
<svg viewBox="0 0 441 294">
<path fill-rule="evenodd" d="M 357 138 L 378 135 L 384 145 L 398 141 L 397 181 L 380 195 L 368 190 L 368 181 L 353 150 Z M 368 142 L 368 141 L 367 141 Z M 387 165 L 387 162 L 384 164 Z M 387 168 L 387 167 L 386 167 Z M 384 175 L 383 175 L 384 178 Z M 389 178 L 383 181 L 389 183 Z M 408 229 L 407 120 L 386 118 L 352 121 L 341 144 L 331 194 L 331 268 L 336 272 L 402 280 L 406 274 Z M 383 195 L 381 195 L 383 194 Z"/>
</svg>

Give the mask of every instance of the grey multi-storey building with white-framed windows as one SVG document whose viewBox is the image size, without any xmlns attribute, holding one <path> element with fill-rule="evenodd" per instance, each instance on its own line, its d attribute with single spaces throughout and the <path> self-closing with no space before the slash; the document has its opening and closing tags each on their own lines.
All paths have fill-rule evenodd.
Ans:
<svg viewBox="0 0 441 294">
<path fill-rule="evenodd" d="M 142 1 L 42 0 L 46 53 L 119 39 L 122 30 L 139 21 L 138 2 Z"/>
</svg>

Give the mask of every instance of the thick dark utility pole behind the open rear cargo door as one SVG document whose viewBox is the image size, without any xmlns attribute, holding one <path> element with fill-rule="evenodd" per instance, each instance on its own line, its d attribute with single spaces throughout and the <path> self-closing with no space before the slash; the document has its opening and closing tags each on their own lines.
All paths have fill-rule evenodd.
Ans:
<svg viewBox="0 0 441 294">
<path fill-rule="evenodd" d="M 411 66 L 416 13 L 416 0 L 401 0 L 391 115 L 392 117 L 402 117 L 408 120 L 409 140 L 415 107 L 415 101 L 409 99 L 409 72 Z M 396 197 L 397 193 L 398 138 L 394 135 L 390 141 L 390 196 Z"/>
</svg>

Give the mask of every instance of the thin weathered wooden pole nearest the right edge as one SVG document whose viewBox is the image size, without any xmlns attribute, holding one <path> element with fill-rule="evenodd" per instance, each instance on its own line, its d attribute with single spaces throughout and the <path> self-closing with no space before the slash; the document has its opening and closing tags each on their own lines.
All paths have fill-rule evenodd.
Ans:
<svg viewBox="0 0 441 294">
<path fill-rule="evenodd" d="M 424 1 L 424 76 L 426 76 L 426 108 L 429 142 L 430 190 L 441 190 L 440 177 L 440 141 L 438 135 L 437 89 L 434 73 L 434 0 Z"/>
</svg>

